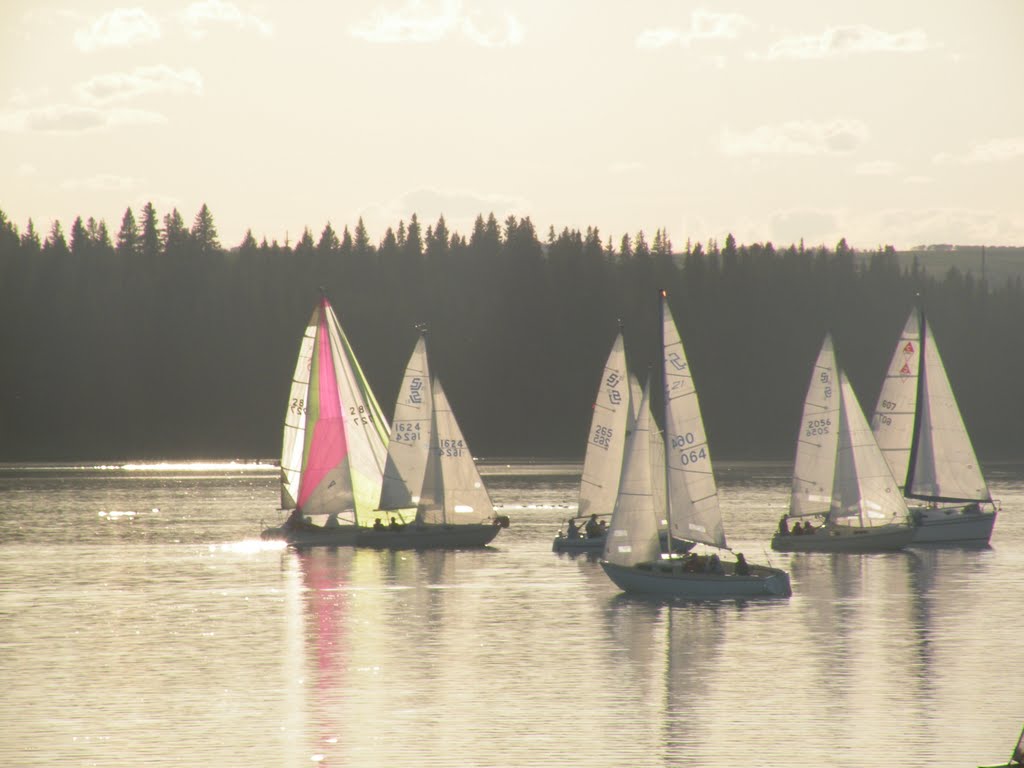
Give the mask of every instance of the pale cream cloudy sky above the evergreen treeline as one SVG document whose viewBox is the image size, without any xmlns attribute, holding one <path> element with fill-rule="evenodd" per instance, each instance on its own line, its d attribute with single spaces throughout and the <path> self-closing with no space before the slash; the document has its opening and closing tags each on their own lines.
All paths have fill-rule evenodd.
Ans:
<svg viewBox="0 0 1024 768">
<path fill-rule="evenodd" d="M 0 210 L 1024 245 L 1024 0 L 4 0 Z"/>
</svg>

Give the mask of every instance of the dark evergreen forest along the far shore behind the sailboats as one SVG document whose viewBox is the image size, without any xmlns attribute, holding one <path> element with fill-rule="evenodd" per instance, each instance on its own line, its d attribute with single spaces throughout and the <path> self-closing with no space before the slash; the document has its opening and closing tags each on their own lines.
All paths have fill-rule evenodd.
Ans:
<svg viewBox="0 0 1024 768">
<path fill-rule="evenodd" d="M 657 357 L 667 289 L 720 459 L 792 459 L 811 366 L 830 330 L 873 407 L 914 296 L 982 458 L 1019 458 L 1024 289 L 901 268 L 891 249 L 676 249 L 479 216 L 468 236 L 413 216 L 373 243 L 330 224 L 281 246 L 218 242 L 204 205 L 129 209 L 116 233 L 68 234 L 0 212 L 0 460 L 268 458 L 323 287 L 390 414 L 417 323 L 481 457 L 580 458 L 620 319 L 631 367 Z"/>
</svg>

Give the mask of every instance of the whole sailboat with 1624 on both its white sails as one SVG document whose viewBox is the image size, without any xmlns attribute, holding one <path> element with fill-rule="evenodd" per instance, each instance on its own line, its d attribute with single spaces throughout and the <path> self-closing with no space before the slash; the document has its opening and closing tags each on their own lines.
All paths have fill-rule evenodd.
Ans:
<svg viewBox="0 0 1024 768">
<path fill-rule="evenodd" d="M 494 514 L 487 489 L 440 380 L 431 377 L 423 331 L 406 367 L 395 402 L 387 464 L 372 527 L 356 546 L 454 549 L 489 544 L 508 517 Z M 413 517 L 406 521 L 406 514 Z"/>
</svg>

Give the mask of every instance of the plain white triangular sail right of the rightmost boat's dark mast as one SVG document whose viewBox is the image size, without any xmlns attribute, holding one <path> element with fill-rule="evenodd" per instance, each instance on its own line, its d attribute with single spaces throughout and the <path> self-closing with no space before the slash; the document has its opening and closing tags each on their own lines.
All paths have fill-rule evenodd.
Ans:
<svg viewBox="0 0 1024 768">
<path fill-rule="evenodd" d="M 991 501 L 974 446 L 927 322 L 919 415 L 905 493 L 947 502 Z"/>
</svg>

